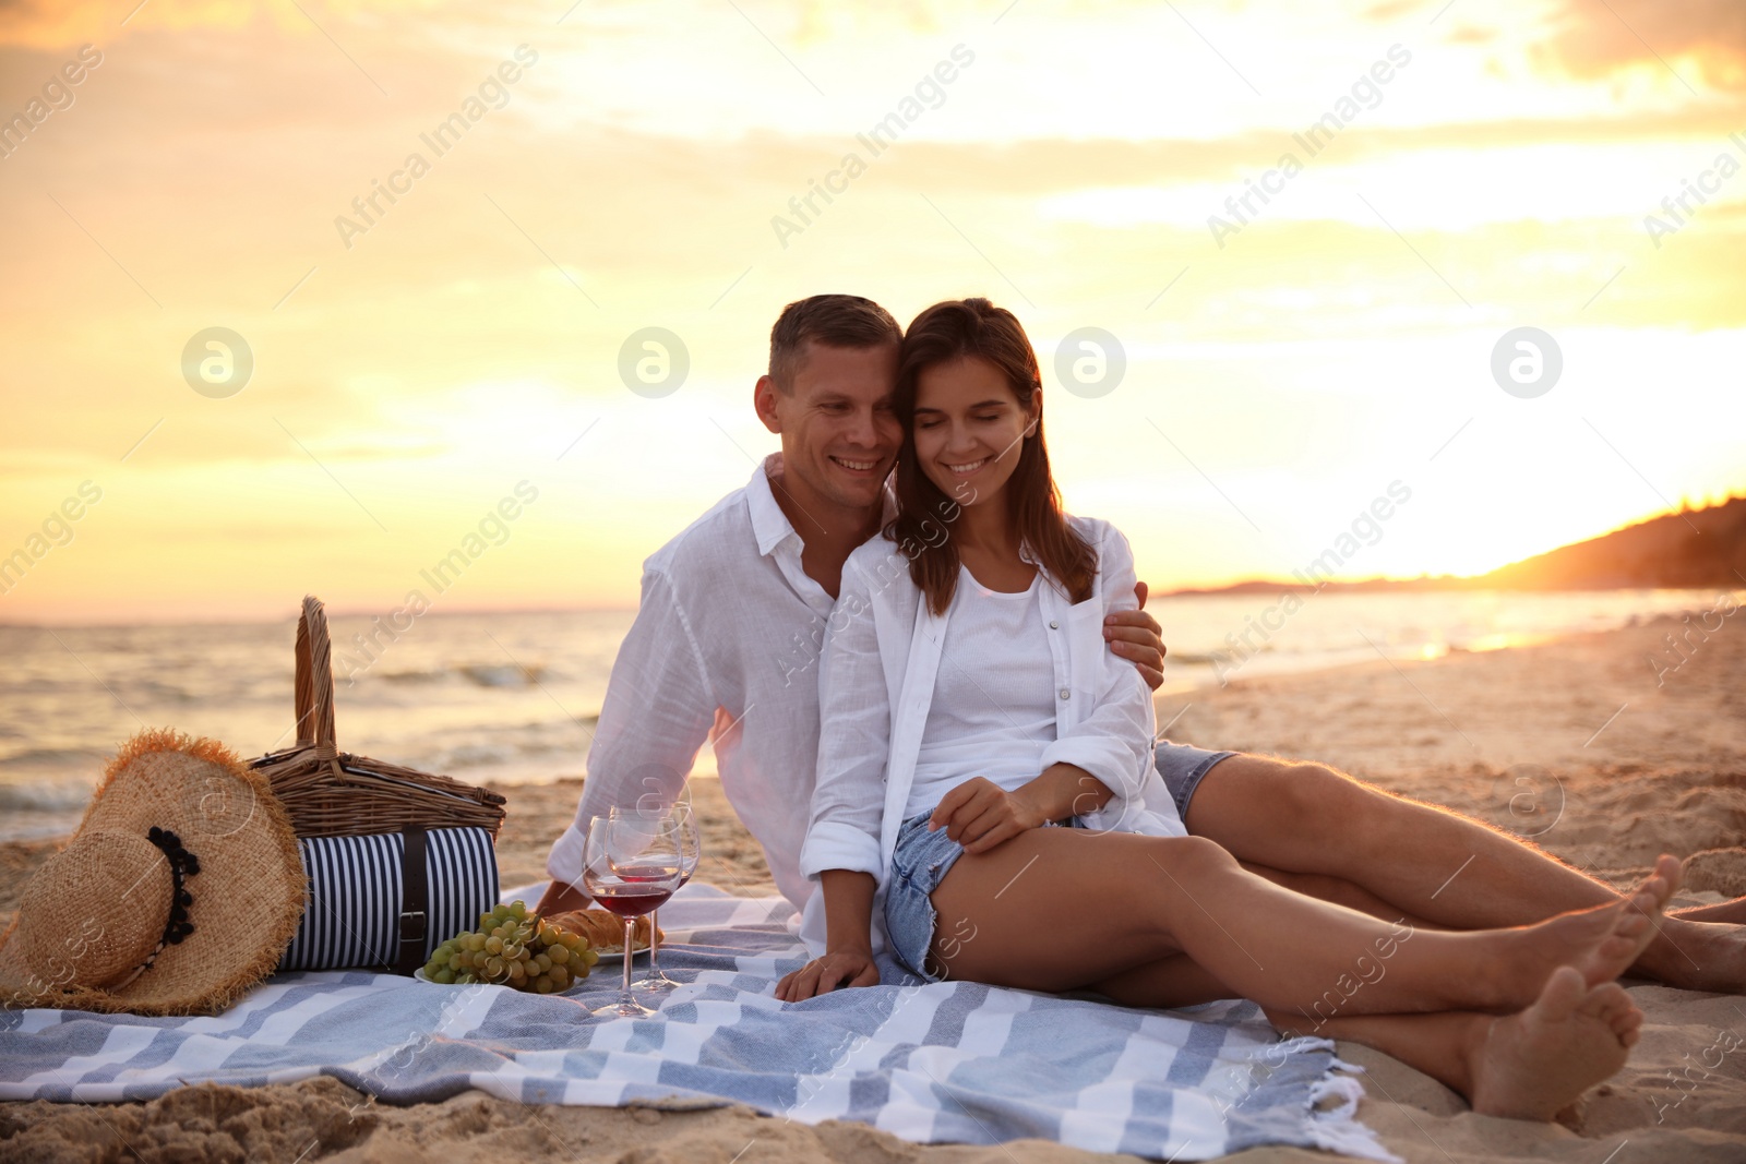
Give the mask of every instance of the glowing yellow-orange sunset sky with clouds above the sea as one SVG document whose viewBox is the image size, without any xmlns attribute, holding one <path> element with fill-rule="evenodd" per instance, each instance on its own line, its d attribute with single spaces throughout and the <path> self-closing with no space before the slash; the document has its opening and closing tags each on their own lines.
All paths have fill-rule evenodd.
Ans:
<svg viewBox="0 0 1746 1164">
<path fill-rule="evenodd" d="M 1156 588 L 1287 578 L 1395 482 L 1348 576 L 1746 492 L 1739 0 L 14 0 L 0 117 L 0 621 L 386 613 L 468 544 L 440 607 L 634 606 L 838 290 L 1011 307 Z M 185 379 L 208 328 L 241 391 Z"/>
</svg>

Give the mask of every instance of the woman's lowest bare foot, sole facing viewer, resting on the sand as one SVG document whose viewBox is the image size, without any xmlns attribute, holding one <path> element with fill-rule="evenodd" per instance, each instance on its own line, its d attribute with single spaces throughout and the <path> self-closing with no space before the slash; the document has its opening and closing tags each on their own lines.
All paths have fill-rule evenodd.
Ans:
<svg viewBox="0 0 1746 1164">
<path fill-rule="evenodd" d="M 1619 983 L 1589 986 L 1559 967 L 1531 1007 L 1479 1028 L 1467 1054 L 1474 1112 L 1550 1120 L 1626 1065 L 1641 1026 Z"/>
</svg>

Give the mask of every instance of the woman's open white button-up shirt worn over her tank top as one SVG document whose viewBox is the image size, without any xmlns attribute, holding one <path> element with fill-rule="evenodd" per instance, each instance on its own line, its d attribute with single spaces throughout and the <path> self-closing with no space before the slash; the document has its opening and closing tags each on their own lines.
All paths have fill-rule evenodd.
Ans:
<svg viewBox="0 0 1746 1164">
<path fill-rule="evenodd" d="M 1107 785 L 1110 801 L 1079 815 L 1091 829 L 1184 836 L 1154 768 L 1152 693 L 1133 663 L 1114 656 L 1103 640 L 1103 618 L 1138 606 L 1133 551 L 1109 522 L 1069 522 L 1096 548 L 1098 572 L 1091 597 L 1072 604 L 1042 571 L 1037 602 L 1048 630 L 1055 740 L 1030 775 L 1065 763 Z M 952 616 L 950 607 L 945 614 L 927 609 L 910 581 L 910 560 L 883 537 L 857 548 L 843 565 L 819 667 L 817 789 L 800 855 L 805 876 L 871 873 L 880 883 L 876 902 L 883 900 Z M 882 906 L 875 907 L 875 948 L 883 944 L 880 914 Z M 815 953 L 824 949 L 822 894 L 807 902 L 801 937 Z"/>
</svg>

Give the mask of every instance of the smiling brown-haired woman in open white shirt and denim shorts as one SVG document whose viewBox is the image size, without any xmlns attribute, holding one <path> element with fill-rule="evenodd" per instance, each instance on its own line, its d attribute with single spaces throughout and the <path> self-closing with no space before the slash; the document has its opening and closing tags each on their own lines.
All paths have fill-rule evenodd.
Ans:
<svg viewBox="0 0 1746 1164">
<path fill-rule="evenodd" d="M 1151 696 L 1098 637 L 1135 602 L 1131 553 L 1060 510 L 1018 319 L 981 298 L 924 311 L 894 407 L 899 511 L 849 558 L 821 665 L 801 869 L 828 949 L 779 998 L 876 983 L 889 935 L 934 981 L 1254 998 L 1276 1026 L 1378 1045 L 1498 1115 L 1550 1119 L 1624 1065 L 1641 1014 L 1612 979 L 1678 862 L 1631 902 L 1472 934 L 1245 873 L 1182 834 L 1152 773 Z M 1063 822 L 1083 827 L 1046 827 Z"/>
</svg>

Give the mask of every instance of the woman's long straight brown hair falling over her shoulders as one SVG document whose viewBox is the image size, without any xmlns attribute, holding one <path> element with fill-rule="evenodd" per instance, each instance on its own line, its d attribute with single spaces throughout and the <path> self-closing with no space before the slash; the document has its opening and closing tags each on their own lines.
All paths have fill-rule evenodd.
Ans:
<svg viewBox="0 0 1746 1164">
<path fill-rule="evenodd" d="M 927 609 L 945 614 L 959 585 L 959 546 L 952 522 L 959 504 L 922 473 L 915 455 L 915 396 L 922 372 L 964 356 L 992 363 L 1013 389 L 1020 408 L 1042 387 L 1037 353 L 1011 311 L 986 298 L 934 304 L 910 323 L 897 358 L 897 391 L 892 407 L 903 422 L 897 454 L 897 517 L 885 525 L 910 558 L 910 578 L 927 595 Z M 1096 550 L 1067 524 L 1062 496 L 1049 475 L 1049 450 L 1042 440 L 1042 408 L 1037 431 L 1023 438 L 1018 466 L 1006 483 L 1007 520 L 1021 544 L 1074 602 L 1091 597 Z"/>
</svg>

